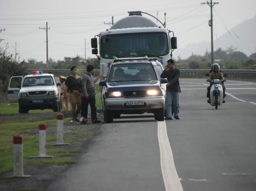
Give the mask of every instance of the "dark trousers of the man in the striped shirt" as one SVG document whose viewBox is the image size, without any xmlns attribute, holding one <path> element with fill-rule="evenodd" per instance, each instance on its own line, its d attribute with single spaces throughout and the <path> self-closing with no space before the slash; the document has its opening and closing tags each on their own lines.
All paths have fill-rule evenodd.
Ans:
<svg viewBox="0 0 256 191">
<path fill-rule="evenodd" d="M 86 99 L 85 97 L 82 96 L 81 99 L 82 99 L 81 116 L 84 117 L 84 118 L 87 118 L 88 104 L 90 104 L 90 107 L 91 107 L 91 121 L 97 120 L 95 95 L 89 96 L 88 99 Z"/>
</svg>

